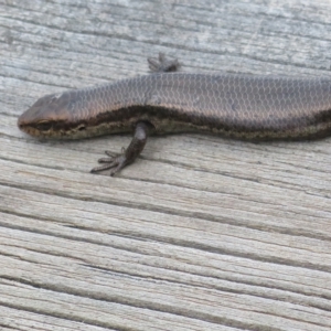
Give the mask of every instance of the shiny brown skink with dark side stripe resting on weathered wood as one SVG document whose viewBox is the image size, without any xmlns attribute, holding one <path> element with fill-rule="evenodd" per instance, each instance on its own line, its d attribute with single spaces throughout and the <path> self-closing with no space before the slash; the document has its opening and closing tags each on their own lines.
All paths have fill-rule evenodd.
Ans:
<svg viewBox="0 0 331 331">
<path fill-rule="evenodd" d="M 331 79 L 175 73 L 177 61 L 149 58 L 157 72 L 40 98 L 18 126 L 42 138 L 134 131 L 120 154 L 106 152 L 110 175 L 132 163 L 150 134 L 210 132 L 233 138 L 305 139 L 331 131 Z M 171 72 L 171 73 L 169 73 Z"/>
</svg>

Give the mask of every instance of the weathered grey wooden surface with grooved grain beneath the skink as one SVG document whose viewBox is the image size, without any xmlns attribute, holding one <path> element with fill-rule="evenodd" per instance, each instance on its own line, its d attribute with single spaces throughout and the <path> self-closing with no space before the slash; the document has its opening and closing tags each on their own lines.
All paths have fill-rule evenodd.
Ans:
<svg viewBox="0 0 331 331">
<path fill-rule="evenodd" d="M 0 330 L 331 329 L 331 138 L 41 142 L 39 97 L 148 72 L 329 76 L 330 1 L 0 0 Z"/>
</svg>

